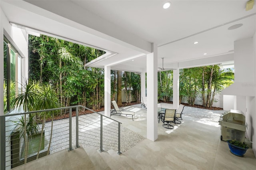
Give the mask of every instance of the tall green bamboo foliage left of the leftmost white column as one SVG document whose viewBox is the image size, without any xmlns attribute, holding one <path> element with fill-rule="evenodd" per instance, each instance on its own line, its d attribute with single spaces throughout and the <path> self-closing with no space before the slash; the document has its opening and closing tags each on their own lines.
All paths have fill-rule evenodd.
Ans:
<svg viewBox="0 0 256 170">
<path fill-rule="evenodd" d="M 29 77 L 50 83 L 62 106 L 88 104 L 93 109 L 101 106 L 104 70 L 84 65 L 104 51 L 45 35 L 30 35 L 29 54 Z"/>
</svg>

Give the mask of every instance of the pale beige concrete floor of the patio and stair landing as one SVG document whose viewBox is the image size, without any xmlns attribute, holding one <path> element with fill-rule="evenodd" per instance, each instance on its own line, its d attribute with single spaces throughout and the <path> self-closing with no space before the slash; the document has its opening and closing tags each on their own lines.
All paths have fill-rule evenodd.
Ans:
<svg viewBox="0 0 256 170">
<path fill-rule="evenodd" d="M 172 108 L 170 104 L 162 107 Z M 186 108 L 186 107 L 185 107 Z M 186 108 L 186 111 L 191 112 Z M 193 108 L 192 108 L 193 109 Z M 122 126 L 146 137 L 146 109 L 140 105 L 126 107 L 126 110 L 136 112 L 135 119 L 130 117 L 111 116 L 112 119 L 122 122 Z M 151 141 L 143 140 L 130 150 L 116 154 L 116 160 L 122 160 L 129 164 L 127 168 L 120 161 L 121 168 L 107 169 L 134 169 L 134 170 L 255 170 L 256 159 L 252 149 L 248 149 L 244 157 L 238 157 L 230 153 L 228 144 L 220 140 L 220 126 L 218 122 L 205 118 L 207 112 L 195 109 L 197 114 L 202 113 L 202 119 L 188 117 L 184 113 L 181 124 L 176 124 L 174 129 L 162 127 L 158 124 L 158 139 Z M 220 113 L 217 113 L 220 114 Z M 76 151 L 80 152 L 80 151 Z M 116 152 L 115 152 L 116 153 Z M 98 166 L 86 166 L 83 164 L 84 156 L 72 156 L 72 152 L 60 152 L 50 158 L 42 158 L 38 164 L 47 164 L 45 169 L 99 169 Z M 72 160 L 74 158 L 74 160 Z M 67 161 L 64 161 L 68 159 Z M 56 166 L 56 162 L 61 164 Z M 76 162 L 76 166 L 70 166 L 70 162 Z M 38 164 L 19 167 L 17 169 L 37 169 Z M 72 163 L 71 163 L 72 164 Z M 81 164 L 81 165 L 80 165 Z M 36 166 L 37 165 L 37 166 Z M 75 167 L 75 168 L 74 168 Z M 120 166 L 119 166 L 120 167 Z M 42 168 L 42 166 L 41 166 Z M 43 168 L 44 169 L 44 168 Z"/>
</svg>

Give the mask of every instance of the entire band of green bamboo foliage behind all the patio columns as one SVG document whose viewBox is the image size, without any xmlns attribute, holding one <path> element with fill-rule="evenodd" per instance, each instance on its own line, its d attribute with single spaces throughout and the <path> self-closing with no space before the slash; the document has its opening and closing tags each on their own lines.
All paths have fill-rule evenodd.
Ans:
<svg viewBox="0 0 256 170">
<path fill-rule="evenodd" d="M 50 83 L 62 106 L 84 105 L 100 109 L 104 99 L 104 70 L 85 67 L 104 51 L 41 35 L 29 36 L 29 77 Z M 158 99 L 170 101 L 173 84 L 172 71 L 158 72 Z M 194 105 L 196 97 L 204 107 L 216 102 L 214 96 L 234 80 L 231 69 L 220 70 L 218 65 L 180 69 L 180 102 L 186 99 Z M 122 105 L 121 91 L 126 90 L 126 102 L 134 97 L 140 101 L 140 76 L 124 71 L 111 71 L 111 95 Z"/>
</svg>

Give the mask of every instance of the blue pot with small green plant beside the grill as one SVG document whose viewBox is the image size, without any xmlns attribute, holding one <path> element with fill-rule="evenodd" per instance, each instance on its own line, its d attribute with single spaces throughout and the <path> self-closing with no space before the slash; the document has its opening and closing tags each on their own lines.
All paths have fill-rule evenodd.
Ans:
<svg viewBox="0 0 256 170">
<path fill-rule="evenodd" d="M 240 142 L 239 140 L 227 140 L 230 152 L 236 156 L 244 156 L 246 150 L 249 148 L 247 144 Z"/>
</svg>

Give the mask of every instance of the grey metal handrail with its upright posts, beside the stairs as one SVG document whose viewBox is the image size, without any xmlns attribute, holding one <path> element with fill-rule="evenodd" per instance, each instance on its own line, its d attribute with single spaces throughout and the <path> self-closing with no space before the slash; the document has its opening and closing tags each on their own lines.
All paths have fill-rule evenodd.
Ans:
<svg viewBox="0 0 256 170">
<path fill-rule="evenodd" d="M 102 140 L 102 127 L 103 127 L 103 117 L 110 119 L 116 123 L 118 123 L 118 154 L 121 154 L 120 152 L 120 125 L 122 124 L 119 121 L 116 121 L 110 117 L 107 117 L 105 115 L 102 115 L 101 113 L 98 113 L 96 111 L 93 111 L 92 109 L 89 109 L 87 107 L 84 107 L 82 105 L 76 105 L 76 106 L 69 106 L 69 107 L 60 107 L 60 108 L 54 108 L 54 109 L 45 109 L 45 110 L 38 110 L 38 111 L 29 111 L 29 112 L 24 112 L 24 113 L 14 113 L 14 114 L 8 114 L 8 115 L 1 115 L 0 116 L 0 170 L 5 170 L 5 130 L 6 130 L 6 124 L 5 124 L 5 118 L 6 117 L 11 117 L 11 116 L 18 116 L 18 115 L 25 115 L 25 114 L 32 114 L 32 113 L 40 113 L 40 112 L 48 112 L 48 111 L 56 111 L 56 110 L 63 110 L 63 109 L 70 109 L 69 111 L 69 150 L 72 150 L 72 108 L 76 108 L 76 148 L 80 147 L 78 145 L 78 108 L 82 107 L 86 110 L 92 111 L 92 113 L 96 113 L 100 115 L 100 151 L 103 151 L 102 145 L 103 145 L 103 140 Z"/>
</svg>

